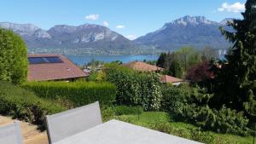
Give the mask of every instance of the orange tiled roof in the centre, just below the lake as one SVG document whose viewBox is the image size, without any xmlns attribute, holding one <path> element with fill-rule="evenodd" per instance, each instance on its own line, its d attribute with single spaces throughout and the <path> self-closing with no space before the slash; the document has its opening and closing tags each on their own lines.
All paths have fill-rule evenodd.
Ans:
<svg viewBox="0 0 256 144">
<path fill-rule="evenodd" d="M 154 66 L 154 65 L 149 65 L 145 62 L 140 62 L 140 61 L 132 61 L 130 63 L 123 64 L 123 66 L 130 67 L 132 69 L 135 69 L 137 71 L 148 71 L 148 72 L 154 72 L 154 71 L 163 71 L 164 68 Z"/>
</svg>

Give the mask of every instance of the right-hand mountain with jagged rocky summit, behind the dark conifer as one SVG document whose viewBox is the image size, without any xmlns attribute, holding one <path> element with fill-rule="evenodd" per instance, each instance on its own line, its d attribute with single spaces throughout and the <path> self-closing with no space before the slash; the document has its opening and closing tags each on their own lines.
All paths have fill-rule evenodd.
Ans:
<svg viewBox="0 0 256 144">
<path fill-rule="evenodd" d="M 135 39 L 135 43 L 152 46 L 156 49 L 170 50 L 183 46 L 192 46 L 197 49 L 212 47 L 225 49 L 230 43 L 221 35 L 219 26 L 226 26 L 231 19 L 220 22 L 207 20 L 204 16 L 184 16 L 166 23 L 159 30 Z"/>
</svg>

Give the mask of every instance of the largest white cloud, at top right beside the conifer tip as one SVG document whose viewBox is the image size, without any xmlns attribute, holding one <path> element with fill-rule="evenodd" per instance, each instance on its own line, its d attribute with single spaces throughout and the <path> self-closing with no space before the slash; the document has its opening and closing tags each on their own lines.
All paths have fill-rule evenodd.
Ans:
<svg viewBox="0 0 256 144">
<path fill-rule="evenodd" d="M 218 8 L 218 11 L 227 11 L 227 12 L 233 12 L 233 13 L 239 13 L 245 10 L 245 4 L 244 3 L 222 3 L 221 7 Z"/>
</svg>

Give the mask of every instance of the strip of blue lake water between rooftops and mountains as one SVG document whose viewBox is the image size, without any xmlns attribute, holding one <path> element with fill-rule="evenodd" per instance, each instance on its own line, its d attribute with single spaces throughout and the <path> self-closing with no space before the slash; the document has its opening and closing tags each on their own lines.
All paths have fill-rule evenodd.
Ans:
<svg viewBox="0 0 256 144">
<path fill-rule="evenodd" d="M 66 55 L 69 60 L 77 65 L 83 65 L 90 62 L 92 59 L 104 62 L 112 62 L 120 60 L 123 63 L 131 62 L 134 60 L 157 60 L 159 55 Z"/>
</svg>

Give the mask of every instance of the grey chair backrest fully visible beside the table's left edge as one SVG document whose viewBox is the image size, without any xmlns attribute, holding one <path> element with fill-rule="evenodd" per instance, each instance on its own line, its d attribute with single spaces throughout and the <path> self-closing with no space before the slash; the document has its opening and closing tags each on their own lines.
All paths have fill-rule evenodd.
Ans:
<svg viewBox="0 0 256 144">
<path fill-rule="evenodd" d="M 102 124 L 99 102 L 46 116 L 46 123 L 50 144 L 78 134 Z"/>
</svg>

